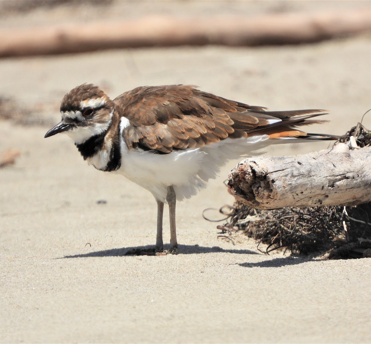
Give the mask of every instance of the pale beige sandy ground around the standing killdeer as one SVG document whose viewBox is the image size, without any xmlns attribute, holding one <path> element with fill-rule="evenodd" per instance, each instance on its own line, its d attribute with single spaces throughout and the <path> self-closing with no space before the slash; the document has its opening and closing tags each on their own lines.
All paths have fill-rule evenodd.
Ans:
<svg viewBox="0 0 371 344">
<path fill-rule="evenodd" d="M 120 6 L 132 10 L 133 4 Z M 59 11 L 37 10 L 35 16 L 46 23 L 62 20 L 67 9 Z M 22 16 L 20 25 L 32 22 L 32 13 Z M 10 22 L 0 19 L 3 26 Z M 304 46 L 0 60 L 0 95 L 13 97 L 45 123 L 0 121 L 0 151 L 22 152 L 14 166 L 0 169 L 0 341 L 370 343 L 371 259 L 268 256 L 244 237 L 235 246 L 218 239 L 216 224 L 202 218 L 205 208 L 232 204 L 223 180 L 235 162 L 178 204 L 178 255 L 124 256 L 155 242 L 150 193 L 87 166 L 68 137 L 43 138 L 59 121 L 62 96 L 83 82 L 112 97 L 139 85 L 191 83 L 271 109 L 325 108 L 332 122 L 311 131 L 344 134 L 370 108 L 370 59 L 370 36 L 361 36 Z M 371 127 L 370 116 L 364 121 Z M 275 146 L 269 154 L 327 145 Z M 164 240 L 169 242 L 167 221 Z"/>
</svg>

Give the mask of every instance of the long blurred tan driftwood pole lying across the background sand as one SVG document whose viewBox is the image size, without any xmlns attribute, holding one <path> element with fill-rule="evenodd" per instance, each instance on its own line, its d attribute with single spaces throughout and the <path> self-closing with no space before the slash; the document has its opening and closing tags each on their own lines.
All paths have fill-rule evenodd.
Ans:
<svg viewBox="0 0 371 344">
<path fill-rule="evenodd" d="M 135 21 L 0 30 L 0 57 L 148 46 L 256 46 L 318 42 L 371 30 L 367 8 L 260 17 L 144 17 Z"/>
</svg>

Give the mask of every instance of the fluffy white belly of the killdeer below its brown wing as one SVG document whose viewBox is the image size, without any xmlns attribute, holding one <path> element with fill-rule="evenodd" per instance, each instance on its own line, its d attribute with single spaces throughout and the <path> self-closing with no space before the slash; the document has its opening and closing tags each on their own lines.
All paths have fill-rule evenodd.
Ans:
<svg viewBox="0 0 371 344">
<path fill-rule="evenodd" d="M 124 121 L 121 124 L 125 125 Z M 124 125 L 121 125 L 121 131 Z M 129 151 L 125 141 L 121 140 L 121 167 L 116 173 L 149 190 L 162 202 L 167 187 L 173 185 L 177 200 L 182 200 L 205 187 L 205 182 L 215 178 L 229 159 L 256 154 L 253 151 L 265 147 L 268 141 L 267 135 L 260 135 L 248 139 L 226 139 L 203 148 L 155 154 L 143 150 Z"/>
</svg>

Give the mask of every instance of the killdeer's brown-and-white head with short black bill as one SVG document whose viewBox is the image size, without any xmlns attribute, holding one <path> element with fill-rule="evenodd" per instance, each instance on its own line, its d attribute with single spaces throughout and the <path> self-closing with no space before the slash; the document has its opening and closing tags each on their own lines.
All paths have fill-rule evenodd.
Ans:
<svg viewBox="0 0 371 344">
<path fill-rule="evenodd" d="M 76 144 L 106 131 L 111 124 L 114 102 L 92 84 L 83 84 L 68 92 L 60 104 L 62 121 L 45 137 L 65 132 Z"/>
</svg>

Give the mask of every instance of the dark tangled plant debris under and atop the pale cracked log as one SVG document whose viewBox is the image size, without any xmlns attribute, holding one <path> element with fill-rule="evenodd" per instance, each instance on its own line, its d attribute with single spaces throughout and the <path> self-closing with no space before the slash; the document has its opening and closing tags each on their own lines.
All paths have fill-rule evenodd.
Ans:
<svg viewBox="0 0 371 344">
<path fill-rule="evenodd" d="M 353 136 L 358 147 L 371 143 L 371 132 L 360 123 L 341 142 Z M 217 226 L 231 240 L 243 232 L 267 245 L 265 252 L 290 250 L 292 255 L 322 256 L 327 259 L 371 257 L 371 202 L 357 206 L 285 207 L 259 210 L 240 202 L 221 207 L 227 216 Z M 260 250 L 260 249 L 259 249 Z"/>
</svg>

